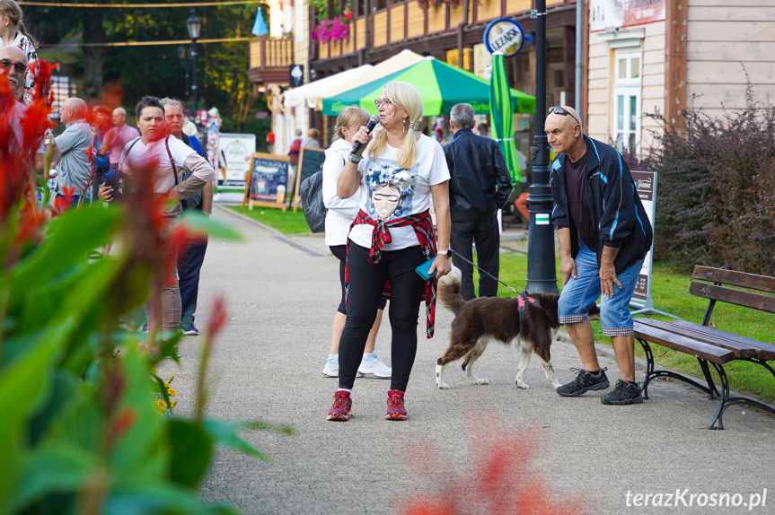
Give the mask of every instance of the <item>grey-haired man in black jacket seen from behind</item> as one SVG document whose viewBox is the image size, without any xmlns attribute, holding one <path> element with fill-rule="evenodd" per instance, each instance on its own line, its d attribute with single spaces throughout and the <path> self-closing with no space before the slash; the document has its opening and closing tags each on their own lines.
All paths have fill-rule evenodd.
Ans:
<svg viewBox="0 0 775 515">
<path fill-rule="evenodd" d="M 454 265 L 462 274 L 461 295 L 466 301 L 475 298 L 473 292 L 472 241 L 476 241 L 480 274 L 479 296 L 498 295 L 500 234 L 498 209 L 506 204 L 511 193 L 511 178 L 506 160 L 498 143 L 488 137 L 474 135 L 473 108 L 457 104 L 450 113 L 454 140 L 444 146 L 449 166 L 449 211 L 452 217 L 450 248 L 454 250 Z M 456 259 L 459 255 L 462 259 Z"/>
</svg>

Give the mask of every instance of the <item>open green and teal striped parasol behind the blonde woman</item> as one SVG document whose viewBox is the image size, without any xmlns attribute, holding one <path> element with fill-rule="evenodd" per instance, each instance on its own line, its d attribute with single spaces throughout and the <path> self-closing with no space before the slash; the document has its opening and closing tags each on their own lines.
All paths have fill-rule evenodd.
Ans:
<svg viewBox="0 0 775 515">
<path fill-rule="evenodd" d="M 354 104 L 375 113 L 374 100 L 379 98 L 383 85 L 393 81 L 410 83 L 418 89 L 425 116 L 449 113 L 459 103 L 471 104 L 478 114 L 490 111 L 489 81 L 433 57 L 426 57 L 416 65 L 323 100 L 322 113 L 336 116 L 341 109 Z M 510 92 L 508 96 L 513 112 L 535 111 L 534 97 L 513 89 L 505 91 Z"/>
</svg>

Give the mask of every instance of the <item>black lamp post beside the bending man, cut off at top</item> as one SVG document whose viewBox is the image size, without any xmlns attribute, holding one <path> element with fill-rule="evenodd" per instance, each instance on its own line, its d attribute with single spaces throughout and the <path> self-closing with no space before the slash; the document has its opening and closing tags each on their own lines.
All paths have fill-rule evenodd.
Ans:
<svg viewBox="0 0 775 515">
<path fill-rule="evenodd" d="M 549 183 L 549 142 L 544 131 L 546 117 L 546 0 L 535 2 L 535 136 L 533 136 L 533 185 L 527 197 L 530 229 L 527 243 L 528 292 L 559 292 L 554 258 L 554 230 Z"/>
</svg>

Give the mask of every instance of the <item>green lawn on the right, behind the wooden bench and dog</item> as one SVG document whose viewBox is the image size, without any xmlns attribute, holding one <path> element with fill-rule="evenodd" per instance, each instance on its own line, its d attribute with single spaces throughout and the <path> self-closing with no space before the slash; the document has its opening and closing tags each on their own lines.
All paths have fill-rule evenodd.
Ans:
<svg viewBox="0 0 775 515">
<path fill-rule="evenodd" d="M 479 281 L 474 271 L 474 284 Z M 510 284 L 517 292 L 524 290 L 527 277 L 527 256 L 521 253 L 501 254 L 500 256 L 500 280 Z M 557 258 L 558 286 L 561 275 L 559 274 L 559 258 Z M 651 296 L 657 310 L 671 313 L 690 322 L 701 323 L 708 301 L 689 294 L 691 275 L 676 272 L 670 266 L 656 264 L 652 274 Z M 498 296 L 515 297 L 515 293 L 508 290 L 502 284 L 498 285 Z M 673 320 L 660 315 L 641 315 L 652 319 L 665 321 Z M 749 310 L 740 306 L 734 306 L 724 302 L 717 302 L 713 316 L 712 327 L 734 333 L 735 335 L 748 336 L 762 342 L 773 342 L 772 329 L 775 325 L 775 315 L 757 310 Z M 603 336 L 599 322 L 593 322 L 594 341 L 611 345 L 611 338 Z M 661 345 L 652 345 L 654 359 L 657 365 L 681 371 L 696 378 L 702 377 L 700 364 L 697 359 L 688 354 L 678 353 Z M 639 344 L 635 345 L 635 354 L 645 358 L 643 349 Z M 775 378 L 761 365 L 751 362 L 735 361 L 724 365 L 729 376 L 730 388 L 759 397 L 764 402 L 775 403 Z M 715 372 L 713 372 L 715 375 Z M 718 382 L 718 378 L 715 378 Z M 702 382 L 702 381 L 700 381 Z"/>
</svg>

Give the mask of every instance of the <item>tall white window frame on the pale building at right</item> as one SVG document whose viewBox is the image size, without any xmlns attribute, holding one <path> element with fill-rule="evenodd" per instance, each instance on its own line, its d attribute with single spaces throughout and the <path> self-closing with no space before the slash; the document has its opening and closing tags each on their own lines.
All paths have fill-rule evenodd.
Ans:
<svg viewBox="0 0 775 515">
<path fill-rule="evenodd" d="M 633 61 L 637 62 L 637 76 L 633 76 Z M 626 66 L 624 78 L 620 78 L 621 62 Z M 616 144 L 616 149 L 622 152 L 625 142 L 634 142 L 635 148 L 630 152 L 639 153 L 640 150 L 640 126 L 643 113 L 641 112 L 642 88 L 641 76 L 643 74 L 643 52 L 640 48 L 617 48 L 613 55 L 613 98 L 612 98 L 612 124 L 611 134 Z M 622 106 L 620 107 L 620 101 Z M 635 99 L 635 109 L 632 112 L 632 99 Z M 622 125 L 619 125 L 621 117 Z M 633 120 L 634 117 L 634 120 Z M 634 124 L 632 122 L 635 122 Z"/>
</svg>

